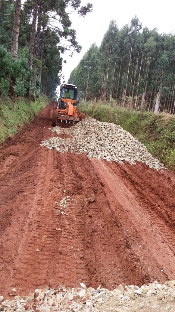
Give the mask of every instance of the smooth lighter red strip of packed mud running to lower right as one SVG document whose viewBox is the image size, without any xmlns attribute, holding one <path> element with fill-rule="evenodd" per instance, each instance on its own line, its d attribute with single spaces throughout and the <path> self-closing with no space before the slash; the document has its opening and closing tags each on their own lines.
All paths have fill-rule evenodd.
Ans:
<svg viewBox="0 0 175 312">
<path fill-rule="evenodd" d="M 174 278 L 174 248 L 171 244 L 166 245 L 167 239 L 162 229 L 150 214 L 147 214 L 146 203 L 144 206 L 143 202 L 140 204 L 136 191 L 130 191 L 132 188 L 128 187 L 127 178 L 121 176 L 116 170 L 116 166 L 117 168 L 118 166 L 126 168 L 126 166 L 94 159 L 91 162 L 104 182 L 106 196 L 110 206 L 118 215 L 122 233 L 128 231 L 127 247 L 131 248 L 133 254 L 139 258 L 141 263 L 139 271 L 147 272 L 148 280 L 151 281 L 166 280 L 170 276 Z M 161 269 L 163 273 L 160 272 Z"/>
</svg>

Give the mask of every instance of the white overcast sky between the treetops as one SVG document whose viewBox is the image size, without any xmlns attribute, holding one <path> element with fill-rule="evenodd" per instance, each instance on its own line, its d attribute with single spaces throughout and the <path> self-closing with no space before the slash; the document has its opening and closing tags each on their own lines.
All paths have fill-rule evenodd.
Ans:
<svg viewBox="0 0 175 312">
<path fill-rule="evenodd" d="M 72 58 L 69 57 L 68 51 L 62 55 L 63 59 L 67 60 L 67 64 L 63 64 L 62 68 L 66 82 L 91 44 L 96 42 L 100 45 L 112 19 L 115 19 L 121 28 L 137 15 L 143 27 L 157 27 L 159 32 L 175 32 L 175 0 L 81 0 L 81 5 L 86 5 L 87 2 L 93 4 L 91 13 L 85 17 L 70 14 L 72 28 L 76 30 L 77 41 L 82 50 L 79 54 L 75 52 Z"/>
</svg>

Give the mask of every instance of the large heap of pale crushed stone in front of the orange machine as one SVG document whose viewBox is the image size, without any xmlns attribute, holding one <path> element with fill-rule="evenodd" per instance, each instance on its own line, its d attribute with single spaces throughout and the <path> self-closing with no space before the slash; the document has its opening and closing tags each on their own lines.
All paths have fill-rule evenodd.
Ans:
<svg viewBox="0 0 175 312">
<path fill-rule="evenodd" d="M 135 164 L 137 160 L 146 163 L 150 168 L 163 169 L 163 164 L 155 159 L 143 144 L 118 125 L 86 118 L 69 129 L 54 127 L 50 130 L 57 134 L 69 134 L 72 139 L 53 137 L 42 141 L 40 145 L 48 149 L 56 148 L 61 153 L 85 152 L 90 158 L 119 163 L 126 160 Z"/>
</svg>

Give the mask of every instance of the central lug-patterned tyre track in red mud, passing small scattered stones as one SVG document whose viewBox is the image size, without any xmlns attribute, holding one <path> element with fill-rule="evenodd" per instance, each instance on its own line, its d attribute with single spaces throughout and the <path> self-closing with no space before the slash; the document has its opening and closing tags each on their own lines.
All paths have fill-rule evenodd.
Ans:
<svg viewBox="0 0 175 312">
<path fill-rule="evenodd" d="M 80 170 L 79 160 L 72 154 L 58 154 L 56 175 L 59 200 L 66 196 L 70 200 L 67 201 L 66 215 L 61 215 L 58 221 L 61 232 L 59 236 L 60 266 L 57 268 L 57 276 L 59 282 L 68 287 L 79 285 L 81 280 L 86 285 L 90 283 L 84 263 L 85 212 L 83 187 L 78 175 Z"/>
</svg>

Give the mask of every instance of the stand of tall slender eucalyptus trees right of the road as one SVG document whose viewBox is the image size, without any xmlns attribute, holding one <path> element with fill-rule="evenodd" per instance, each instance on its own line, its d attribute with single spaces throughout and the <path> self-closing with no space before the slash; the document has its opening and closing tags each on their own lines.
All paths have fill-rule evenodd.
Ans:
<svg viewBox="0 0 175 312">
<path fill-rule="evenodd" d="M 175 35 L 142 28 L 138 17 L 121 29 L 112 20 L 101 45 L 95 43 L 71 72 L 69 83 L 87 100 L 135 110 L 175 112 Z"/>
</svg>

